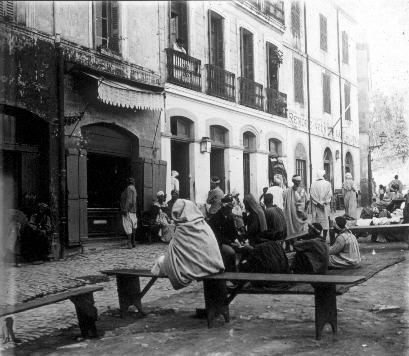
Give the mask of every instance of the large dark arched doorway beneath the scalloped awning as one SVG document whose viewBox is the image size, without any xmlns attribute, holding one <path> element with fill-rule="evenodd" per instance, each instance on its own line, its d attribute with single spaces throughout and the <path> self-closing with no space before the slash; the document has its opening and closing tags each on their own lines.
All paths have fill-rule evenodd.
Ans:
<svg viewBox="0 0 409 356">
<path fill-rule="evenodd" d="M 126 178 L 133 176 L 135 186 L 140 187 L 141 177 L 132 169 L 139 156 L 138 138 L 111 124 L 84 126 L 81 133 L 87 153 L 83 180 L 86 178 L 88 195 L 88 236 L 122 235 L 119 208 Z M 81 173 L 79 177 L 81 180 Z"/>
</svg>

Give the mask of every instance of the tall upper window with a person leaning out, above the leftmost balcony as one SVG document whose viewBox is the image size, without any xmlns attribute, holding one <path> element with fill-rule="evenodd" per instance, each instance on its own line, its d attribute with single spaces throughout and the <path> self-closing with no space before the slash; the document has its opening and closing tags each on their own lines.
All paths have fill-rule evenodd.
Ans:
<svg viewBox="0 0 409 356">
<path fill-rule="evenodd" d="M 170 43 L 171 46 L 180 39 L 183 48 L 188 52 L 188 26 L 186 1 L 172 1 L 170 5 Z"/>
</svg>

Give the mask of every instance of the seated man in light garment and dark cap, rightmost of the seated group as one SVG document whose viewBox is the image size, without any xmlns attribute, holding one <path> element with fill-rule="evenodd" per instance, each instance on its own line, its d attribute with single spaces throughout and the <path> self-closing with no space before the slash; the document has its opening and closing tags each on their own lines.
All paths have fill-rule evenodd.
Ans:
<svg viewBox="0 0 409 356">
<path fill-rule="evenodd" d="M 329 268 L 357 268 L 361 264 L 358 241 L 345 227 L 346 223 L 342 216 L 335 218 L 334 230 L 337 236 L 329 249 Z"/>
</svg>

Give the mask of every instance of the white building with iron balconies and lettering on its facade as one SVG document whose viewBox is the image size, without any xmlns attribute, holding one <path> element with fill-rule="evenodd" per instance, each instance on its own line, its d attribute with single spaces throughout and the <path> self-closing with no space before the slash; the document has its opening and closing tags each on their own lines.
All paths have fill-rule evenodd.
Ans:
<svg viewBox="0 0 409 356">
<path fill-rule="evenodd" d="M 162 159 L 168 175 L 179 171 L 183 197 L 203 203 L 213 175 L 225 191 L 259 196 L 276 155 L 307 187 L 319 168 L 334 189 L 343 172 L 359 180 L 356 23 L 342 8 L 327 1 L 163 6 Z"/>
</svg>

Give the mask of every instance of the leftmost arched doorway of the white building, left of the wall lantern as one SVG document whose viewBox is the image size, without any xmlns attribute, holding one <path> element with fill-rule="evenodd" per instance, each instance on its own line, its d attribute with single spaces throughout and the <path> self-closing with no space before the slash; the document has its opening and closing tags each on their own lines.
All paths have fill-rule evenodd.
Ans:
<svg viewBox="0 0 409 356">
<path fill-rule="evenodd" d="M 190 199 L 189 144 L 193 141 L 193 122 L 182 116 L 170 118 L 172 133 L 171 170 L 179 173 L 179 197 Z"/>
</svg>

